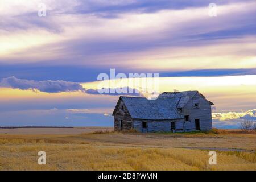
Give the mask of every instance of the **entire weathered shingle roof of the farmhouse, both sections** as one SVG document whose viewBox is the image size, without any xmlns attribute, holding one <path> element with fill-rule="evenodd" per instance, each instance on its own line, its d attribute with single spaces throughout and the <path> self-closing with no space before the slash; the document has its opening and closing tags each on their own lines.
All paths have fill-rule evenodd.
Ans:
<svg viewBox="0 0 256 182">
<path fill-rule="evenodd" d="M 163 92 L 156 100 L 148 100 L 145 97 L 121 96 L 112 115 L 115 114 L 119 102 L 122 100 L 133 119 L 180 119 L 183 118 L 183 114 L 179 109 L 182 109 L 197 93 L 199 92 Z M 200 95 L 206 100 L 203 94 Z M 213 105 L 212 102 L 208 102 Z"/>
</svg>

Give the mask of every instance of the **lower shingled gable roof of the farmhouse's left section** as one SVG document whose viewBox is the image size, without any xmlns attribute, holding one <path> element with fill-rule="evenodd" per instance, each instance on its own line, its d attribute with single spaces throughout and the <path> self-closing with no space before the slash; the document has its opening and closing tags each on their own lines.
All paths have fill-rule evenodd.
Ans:
<svg viewBox="0 0 256 182">
<path fill-rule="evenodd" d="M 121 96 L 112 115 L 117 111 L 120 100 L 124 102 L 133 119 L 164 120 L 183 118 L 181 112 L 176 108 L 173 98 L 147 100 L 144 97 Z"/>
</svg>

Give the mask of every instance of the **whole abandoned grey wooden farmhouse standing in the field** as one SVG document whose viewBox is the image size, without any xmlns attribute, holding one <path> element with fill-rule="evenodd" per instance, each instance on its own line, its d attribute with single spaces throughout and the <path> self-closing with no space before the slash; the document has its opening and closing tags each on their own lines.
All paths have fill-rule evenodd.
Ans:
<svg viewBox="0 0 256 182">
<path fill-rule="evenodd" d="M 212 129 L 212 106 L 198 91 L 163 92 L 156 100 L 119 97 L 113 111 L 114 130 L 140 132 Z"/>
</svg>

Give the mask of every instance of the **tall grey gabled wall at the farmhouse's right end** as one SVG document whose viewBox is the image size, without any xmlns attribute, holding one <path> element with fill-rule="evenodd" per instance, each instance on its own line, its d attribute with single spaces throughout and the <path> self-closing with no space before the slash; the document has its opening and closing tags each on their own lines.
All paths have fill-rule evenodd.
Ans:
<svg viewBox="0 0 256 182">
<path fill-rule="evenodd" d="M 193 101 L 199 102 L 199 107 Z M 185 131 L 196 130 L 195 119 L 200 119 L 200 129 L 212 129 L 212 106 L 200 94 L 196 94 L 183 108 L 183 114 L 189 115 L 189 121 L 184 121 Z"/>
</svg>

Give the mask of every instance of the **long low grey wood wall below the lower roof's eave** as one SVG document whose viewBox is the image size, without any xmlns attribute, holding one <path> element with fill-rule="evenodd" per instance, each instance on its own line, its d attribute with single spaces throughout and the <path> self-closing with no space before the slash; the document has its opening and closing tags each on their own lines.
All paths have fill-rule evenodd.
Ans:
<svg viewBox="0 0 256 182">
<path fill-rule="evenodd" d="M 142 122 L 147 123 L 147 128 L 142 127 Z M 175 122 L 175 131 L 183 131 L 183 120 L 143 120 L 134 119 L 134 129 L 139 132 L 168 132 L 171 131 L 171 122 Z"/>
</svg>

